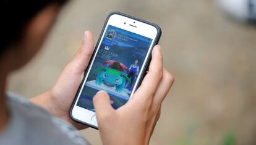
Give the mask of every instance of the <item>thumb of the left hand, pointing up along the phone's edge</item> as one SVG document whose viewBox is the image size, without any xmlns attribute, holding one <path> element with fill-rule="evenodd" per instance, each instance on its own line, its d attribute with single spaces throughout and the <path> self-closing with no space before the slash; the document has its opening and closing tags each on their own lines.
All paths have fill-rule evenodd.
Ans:
<svg viewBox="0 0 256 145">
<path fill-rule="evenodd" d="M 94 40 L 90 31 L 85 31 L 84 38 L 80 49 L 75 54 L 73 60 L 69 63 L 69 69 L 74 70 L 78 74 L 85 71 L 92 57 L 94 50 Z"/>
</svg>

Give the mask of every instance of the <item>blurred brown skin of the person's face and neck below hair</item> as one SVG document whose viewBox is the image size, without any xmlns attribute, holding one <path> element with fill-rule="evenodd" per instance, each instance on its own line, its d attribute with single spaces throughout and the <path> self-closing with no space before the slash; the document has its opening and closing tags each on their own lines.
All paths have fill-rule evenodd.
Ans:
<svg viewBox="0 0 256 145">
<path fill-rule="evenodd" d="M 12 44 L 1 54 L 0 57 L 0 131 L 8 122 L 8 111 L 6 106 L 7 77 L 16 69 L 21 68 L 30 61 L 38 52 L 49 30 L 54 24 L 59 13 L 59 6 L 51 4 L 36 14 L 30 20 L 23 31 L 23 37 L 19 42 Z"/>
</svg>

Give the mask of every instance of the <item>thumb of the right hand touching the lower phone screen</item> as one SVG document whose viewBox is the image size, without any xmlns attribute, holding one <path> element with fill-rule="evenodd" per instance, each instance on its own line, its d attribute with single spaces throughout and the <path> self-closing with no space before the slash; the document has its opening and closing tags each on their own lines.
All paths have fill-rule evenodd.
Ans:
<svg viewBox="0 0 256 145">
<path fill-rule="evenodd" d="M 93 97 L 93 105 L 97 118 L 110 116 L 114 111 L 110 104 L 109 95 L 103 90 Z"/>
</svg>

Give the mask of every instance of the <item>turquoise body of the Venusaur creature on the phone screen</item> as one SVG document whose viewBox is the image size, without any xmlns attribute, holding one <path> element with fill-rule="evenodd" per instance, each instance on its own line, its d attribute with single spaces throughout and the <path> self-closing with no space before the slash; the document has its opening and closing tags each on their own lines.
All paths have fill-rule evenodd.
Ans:
<svg viewBox="0 0 256 145">
<path fill-rule="evenodd" d="M 130 83 L 130 79 L 121 71 L 113 68 L 98 68 L 96 72 L 100 72 L 96 77 L 95 84 L 105 84 L 108 87 L 116 87 L 116 92 L 122 92 L 126 80 Z"/>
</svg>

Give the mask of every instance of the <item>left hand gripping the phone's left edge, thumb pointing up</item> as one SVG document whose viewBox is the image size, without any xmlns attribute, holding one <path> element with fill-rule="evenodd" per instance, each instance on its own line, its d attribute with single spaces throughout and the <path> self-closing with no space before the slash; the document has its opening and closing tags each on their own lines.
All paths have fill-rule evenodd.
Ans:
<svg viewBox="0 0 256 145">
<path fill-rule="evenodd" d="M 83 79 L 85 68 L 92 57 L 94 41 L 92 33 L 85 31 L 81 48 L 74 59 L 64 68 L 54 87 L 48 92 L 32 98 L 38 104 L 61 119 L 67 120 L 78 129 L 87 126 L 74 122 L 69 117 L 69 110 L 74 101 L 75 94 Z"/>
</svg>

